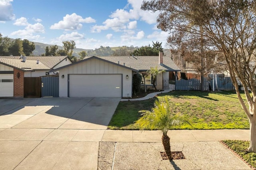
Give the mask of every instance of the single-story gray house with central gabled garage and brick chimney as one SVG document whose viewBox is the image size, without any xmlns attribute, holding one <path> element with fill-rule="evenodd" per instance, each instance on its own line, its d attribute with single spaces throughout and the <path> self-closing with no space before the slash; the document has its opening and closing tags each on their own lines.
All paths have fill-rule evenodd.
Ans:
<svg viewBox="0 0 256 170">
<path fill-rule="evenodd" d="M 164 89 L 167 84 L 168 88 L 169 72 L 180 69 L 163 52 L 159 56 L 85 57 L 52 71 L 60 73 L 60 97 L 132 97 L 132 75 L 156 66 L 166 71 L 157 76 L 156 87 Z M 147 88 L 153 88 L 151 82 L 148 77 Z"/>
</svg>

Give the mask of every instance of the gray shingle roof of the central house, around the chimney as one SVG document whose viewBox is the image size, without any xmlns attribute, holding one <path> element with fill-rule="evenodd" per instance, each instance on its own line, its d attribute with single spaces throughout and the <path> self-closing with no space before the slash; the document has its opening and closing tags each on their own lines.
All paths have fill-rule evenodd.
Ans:
<svg viewBox="0 0 256 170">
<path fill-rule="evenodd" d="M 90 57 L 85 57 L 84 59 L 88 59 Z M 163 64 L 159 64 L 159 56 L 103 56 L 98 57 L 107 61 L 111 61 L 113 63 L 117 63 L 119 61 L 120 65 L 124 65 L 126 67 L 130 67 L 133 69 L 140 71 L 150 70 L 150 67 L 158 66 L 158 69 L 165 71 L 180 71 L 180 68 L 172 61 L 172 59 L 168 56 L 163 56 Z"/>
</svg>

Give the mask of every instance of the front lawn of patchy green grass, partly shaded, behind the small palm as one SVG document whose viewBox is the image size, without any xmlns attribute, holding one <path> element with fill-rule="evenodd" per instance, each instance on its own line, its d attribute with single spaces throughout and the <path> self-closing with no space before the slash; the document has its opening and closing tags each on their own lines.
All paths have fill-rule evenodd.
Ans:
<svg viewBox="0 0 256 170">
<path fill-rule="evenodd" d="M 170 100 L 174 113 L 182 115 L 192 124 L 174 127 L 174 129 L 249 129 L 249 121 L 234 91 L 200 92 L 173 91 L 163 93 L 147 101 L 120 102 L 109 125 L 109 129 L 138 129 L 134 121 L 138 120 L 140 110 L 151 110 L 154 100 Z M 242 95 L 245 100 L 245 95 Z"/>
</svg>

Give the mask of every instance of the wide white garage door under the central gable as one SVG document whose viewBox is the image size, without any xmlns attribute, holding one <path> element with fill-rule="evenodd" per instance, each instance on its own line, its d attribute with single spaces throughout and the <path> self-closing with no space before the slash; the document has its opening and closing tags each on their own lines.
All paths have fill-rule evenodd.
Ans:
<svg viewBox="0 0 256 170">
<path fill-rule="evenodd" d="M 69 97 L 122 97 L 122 75 L 70 75 Z"/>
</svg>

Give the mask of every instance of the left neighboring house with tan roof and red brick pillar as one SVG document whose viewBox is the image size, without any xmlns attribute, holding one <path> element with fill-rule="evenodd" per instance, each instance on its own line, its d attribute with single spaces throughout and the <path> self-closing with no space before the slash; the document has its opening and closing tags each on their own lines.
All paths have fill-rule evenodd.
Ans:
<svg viewBox="0 0 256 170">
<path fill-rule="evenodd" d="M 49 75 L 50 70 L 72 63 L 67 56 L 20 58 L 0 56 L 0 97 L 24 97 L 24 77 Z"/>
</svg>

